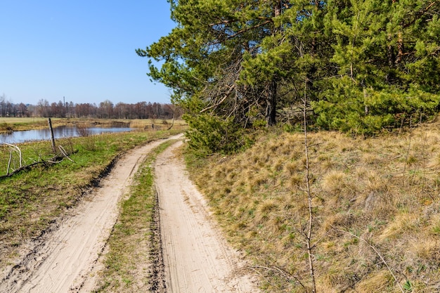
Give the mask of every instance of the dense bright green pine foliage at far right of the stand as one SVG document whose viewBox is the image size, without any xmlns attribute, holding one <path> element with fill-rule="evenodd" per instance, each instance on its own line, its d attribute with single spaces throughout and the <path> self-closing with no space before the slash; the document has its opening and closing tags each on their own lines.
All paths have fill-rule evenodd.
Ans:
<svg viewBox="0 0 440 293">
<path fill-rule="evenodd" d="M 439 103 L 439 35 L 432 32 L 440 4 L 337 2 L 328 1 L 325 26 L 336 40 L 338 74 L 313 104 L 318 124 L 373 133 L 431 115 Z"/>
</svg>

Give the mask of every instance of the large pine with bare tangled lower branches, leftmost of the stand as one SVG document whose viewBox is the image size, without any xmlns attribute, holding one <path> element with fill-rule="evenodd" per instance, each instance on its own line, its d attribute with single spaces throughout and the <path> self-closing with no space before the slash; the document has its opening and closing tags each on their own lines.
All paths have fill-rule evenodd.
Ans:
<svg viewBox="0 0 440 293">
<path fill-rule="evenodd" d="M 174 90 L 172 101 L 186 109 L 190 126 L 199 127 L 192 130 L 201 131 L 201 121 L 245 127 L 261 117 L 266 124 L 275 124 L 279 74 L 261 78 L 263 74 L 257 77 L 250 72 L 257 68 L 271 72 L 273 64 L 257 56 L 266 50 L 264 39 L 280 32 L 276 18 L 290 1 L 170 3 L 177 27 L 137 53 L 163 61 L 160 68 L 150 63 L 149 75 Z M 248 73 L 241 74 L 245 70 Z M 212 134 L 207 129 L 202 136 Z"/>
</svg>

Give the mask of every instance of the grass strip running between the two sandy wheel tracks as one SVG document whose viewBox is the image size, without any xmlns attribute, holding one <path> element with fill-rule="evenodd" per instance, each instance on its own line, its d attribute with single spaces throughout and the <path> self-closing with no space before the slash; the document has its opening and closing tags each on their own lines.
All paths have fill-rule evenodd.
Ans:
<svg viewBox="0 0 440 293">
<path fill-rule="evenodd" d="M 150 251 L 157 245 L 150 229 L 156 208 L 151 163 L 172 143 L 167 141 L 155 148 L 138 169 L 129 198 L 121 204 L 119 219 L 108 240 L 105 269 L 93 292 L 138 292 L 150 287 L 148 263 Z"/>
</svg>

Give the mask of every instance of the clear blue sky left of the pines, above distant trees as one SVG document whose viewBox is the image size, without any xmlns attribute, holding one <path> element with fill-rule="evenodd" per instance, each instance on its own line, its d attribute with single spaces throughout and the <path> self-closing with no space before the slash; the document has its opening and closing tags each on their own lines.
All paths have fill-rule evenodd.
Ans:
<svg viewBox="0 0 440 293">
<path fill-rule="evenodd" d="M 169 103 L 135 52 L 171 32 L 169 15 L 166 0 L 0 0 L 0 96 Z"/>
</svg>

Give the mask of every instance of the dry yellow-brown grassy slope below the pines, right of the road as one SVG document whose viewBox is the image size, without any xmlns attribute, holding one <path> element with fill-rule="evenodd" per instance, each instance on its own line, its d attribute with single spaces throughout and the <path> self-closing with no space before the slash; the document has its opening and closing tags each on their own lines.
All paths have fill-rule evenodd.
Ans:
<svg viewBox="0 0 440 293">
<path fill-rule="evenodd" d="M 392 274 L 406 292 L 440 290 L 439 129 L 434 122 L 366 139 L 309 134 L 318 292 L 401 292 Z M 244 153 L 189 162 L 264 288 L 310 288 L 304 135 L 264 135 Z"/>
</svg>

